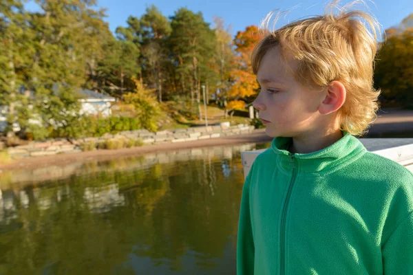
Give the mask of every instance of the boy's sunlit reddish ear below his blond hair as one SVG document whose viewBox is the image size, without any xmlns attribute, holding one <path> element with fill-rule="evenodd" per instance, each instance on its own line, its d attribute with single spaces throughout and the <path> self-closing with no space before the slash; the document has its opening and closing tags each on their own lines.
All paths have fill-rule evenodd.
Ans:
<svg viewBox="0 0 413 275">
<path fill-rule="evenodd" d="M 326 97 L 319 106 L 321 115 L 333 113 L 343 106 L 346 102 L 346 87 L 343 83 L 334 80 L 326 87 Z"/>
</svg>

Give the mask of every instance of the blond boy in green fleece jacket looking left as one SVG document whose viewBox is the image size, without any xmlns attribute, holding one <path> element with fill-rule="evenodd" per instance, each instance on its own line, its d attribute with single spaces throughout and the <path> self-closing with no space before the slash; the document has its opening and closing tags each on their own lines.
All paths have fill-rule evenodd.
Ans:
<svg viewBox="0 0 413 275">
<path fill-rule="evenodd" d="M 238 275 L 413 274 L 413 175 L 353 137 L 378 109 L 375 24 L 341 10 L 255 48 L 253 104 L 275 138 L 244 183 Z"/>
</svg>

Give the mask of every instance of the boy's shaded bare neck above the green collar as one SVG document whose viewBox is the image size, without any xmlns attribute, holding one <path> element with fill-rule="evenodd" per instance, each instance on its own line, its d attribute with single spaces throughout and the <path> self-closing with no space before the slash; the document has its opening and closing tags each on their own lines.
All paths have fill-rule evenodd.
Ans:
<svg viewBox="0 0 413 275">
<path fill-rule="evenodd" d="M 341 137 L 343 137 L 343 133 L 340 129 L 328 132 L 313 131 L 313 133 L 293 137 L 288 151 L 301 154 L 313 153 L 334 144 Z"/>
</svg>

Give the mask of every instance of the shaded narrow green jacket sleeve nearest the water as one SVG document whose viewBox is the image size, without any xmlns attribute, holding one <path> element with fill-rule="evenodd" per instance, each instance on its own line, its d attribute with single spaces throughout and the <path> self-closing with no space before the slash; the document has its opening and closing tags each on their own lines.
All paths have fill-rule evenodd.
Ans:
<svg viewBox="0 0 413 275">
<path fill-rule="evenodd" d="M 237 275 L 254 274 L 255 247 L 251 224 L 250 186 L 249 177 L 246 177 L 242 188 L 240 219 L 238 221 Z"/>
</svg>

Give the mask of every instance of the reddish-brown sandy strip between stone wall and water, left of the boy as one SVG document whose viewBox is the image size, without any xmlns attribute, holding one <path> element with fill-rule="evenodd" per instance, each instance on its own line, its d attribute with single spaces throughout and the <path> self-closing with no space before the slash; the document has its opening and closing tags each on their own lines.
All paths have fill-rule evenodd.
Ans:
<svg viewBox="0 0 413 275">
<path fill-rule="evenodd" d="M 116 159 L 118 157 L 128 157 L 134 155 L 142 155 L 145 153 L 159 152 L 159 151 L 174 151 L 182 148 L 200 148 L 208 146 L 223 146 L 231 144 L 244 143 L 261 143 L 270 142 L 271 137 L 265 134 L 265 129 L 255 130 L 252 133 L 244 135 L 231 135 L 228 137 L 218 137 L 210 140 L 197 140 L 193 142 L 178 142 L 148 145 L 136 148 L 124 148 L 120 150 L 98 150 L 72 154 L 49 155 L 44 157 L 31 157 L 21 159 L 17 162 L 12 162 L 6 165 L 0 165 L 0 173 L 6 170 L 21 170 L 33 169 L 54 166 L 65 166 L 72 162 L 89 162 L 89 161 L 105 161 L 109 159 Z"/>
</svg>

